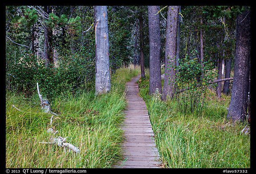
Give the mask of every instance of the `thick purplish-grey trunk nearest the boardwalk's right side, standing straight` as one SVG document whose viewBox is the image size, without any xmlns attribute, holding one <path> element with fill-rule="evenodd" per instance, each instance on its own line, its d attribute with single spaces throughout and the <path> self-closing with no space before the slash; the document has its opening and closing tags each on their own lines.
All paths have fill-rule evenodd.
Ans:
<svg viewBox="0 0 256 174">
<path fill-rule="evenodd" d="M 149 31 L 149 94 L 158 89 L 161 93 L 161 63 L 160 63 L 160 21 L 159 6 L 148 6 L 148 31 Z"/>
</svg>

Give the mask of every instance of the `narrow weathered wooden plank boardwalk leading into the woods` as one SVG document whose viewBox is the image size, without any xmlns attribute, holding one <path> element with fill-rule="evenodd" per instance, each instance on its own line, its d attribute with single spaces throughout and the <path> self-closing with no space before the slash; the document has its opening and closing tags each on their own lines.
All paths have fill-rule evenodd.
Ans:
<svg viewBox="0 0 256 174">
<path fill-rule="evenodd" d="M 160 168 L 159 152 L 156 148 L 154 132 L 143 99 L 138 95 L 136 81 L 140 75 L 127 82 L 126 99 L 128 101 L 126 116 L 122 128 L 124 160 L 115 168 Z"/>
</svg>

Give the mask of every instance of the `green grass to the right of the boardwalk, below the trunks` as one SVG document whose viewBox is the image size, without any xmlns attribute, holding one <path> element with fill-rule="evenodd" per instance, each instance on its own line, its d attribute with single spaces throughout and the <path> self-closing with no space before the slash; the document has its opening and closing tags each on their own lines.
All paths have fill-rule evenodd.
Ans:
<svg viewBox="0 0 256 174">
<path fill-rule="evenodd" d="M 146 71 L 147 72 L 147 71 Z M 250 168 L 250 135 L 226 120 L 230 96 L 209 91 L 200 115 L 184 115 L 177 101 L 148 95 L 148 73 L 140 84 L 165 168 Z"/>
</svg>

